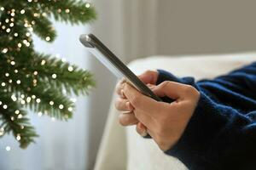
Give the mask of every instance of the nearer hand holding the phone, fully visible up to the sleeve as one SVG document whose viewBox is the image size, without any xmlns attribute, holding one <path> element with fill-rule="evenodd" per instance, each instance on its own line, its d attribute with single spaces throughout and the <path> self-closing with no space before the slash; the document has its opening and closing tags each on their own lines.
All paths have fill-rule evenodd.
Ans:
<svg viewBox="0 0 256 170">
<path fill-rule="evenodd" d="M 162 82 L 152 89 L 160 97 L 174 99 L 171 104 L 155 101 L 128 83 L 124 83 L 122 89 L 135 117 L 147 127 L 148 133 L 161 150 L 169 150 L 177 143 L 200 98 L 200 93 L 195 88 L 178 82 Z M 125 120 L 120 120 L 123 121 Z"/>
</svg>

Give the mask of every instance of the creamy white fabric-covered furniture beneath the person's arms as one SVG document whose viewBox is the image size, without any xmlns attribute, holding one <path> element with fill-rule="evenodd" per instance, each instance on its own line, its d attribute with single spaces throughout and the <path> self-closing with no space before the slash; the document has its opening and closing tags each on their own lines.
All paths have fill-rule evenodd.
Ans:
<svg viewBox="0 0 256 170">
<path fill-rule="evenodd" d="M 255 53 L 201 56 L 154 56 L 137 59 L 129 65 L 136 74 L 146 70 L 164 69 L 177 77 L 212 78 L 242 65 L 256 61 Z M 113 99 L 115 96 L 113 96 Z M 119 112 L 110 107 L 102 144 L 96 159 L 96 170 L 158 170 L 187 169 L 175 157 L 166 156 L 152 139 L 143 139 L 135 127 L 121 127 Z"/>
</svg>

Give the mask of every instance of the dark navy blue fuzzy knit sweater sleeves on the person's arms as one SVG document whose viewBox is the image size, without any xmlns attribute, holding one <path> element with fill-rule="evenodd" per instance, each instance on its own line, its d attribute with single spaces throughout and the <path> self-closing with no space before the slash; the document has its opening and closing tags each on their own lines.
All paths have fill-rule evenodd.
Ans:
<svg viewBox="0 0 256 170">
<path fill-rule="evenodd" d="M 199 82 L 159 72 L 157 84 L 186 83 L 201 93 L 181 139 L 166 154 L 189 169 L 256 169 L 256 62 Z"/>
</svg>

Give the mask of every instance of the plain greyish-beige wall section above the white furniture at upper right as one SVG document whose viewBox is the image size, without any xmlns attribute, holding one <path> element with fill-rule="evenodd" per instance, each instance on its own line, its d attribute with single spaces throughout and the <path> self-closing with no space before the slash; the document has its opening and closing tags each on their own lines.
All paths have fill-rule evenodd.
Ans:
<svg viewBox="0 0 256 170">
<path fill-rule="evenodd" d="M 159 0 L 158 54 L 256 50 L 256 1 Z"/>
</svg>

